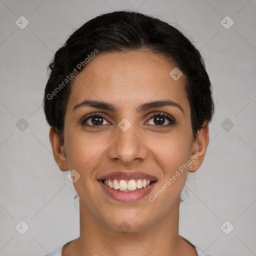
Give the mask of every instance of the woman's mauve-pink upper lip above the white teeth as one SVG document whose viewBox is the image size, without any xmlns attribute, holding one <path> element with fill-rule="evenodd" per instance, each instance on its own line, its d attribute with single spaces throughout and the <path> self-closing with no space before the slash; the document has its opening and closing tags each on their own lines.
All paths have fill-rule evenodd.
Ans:
<svg viewBox="0 0 256 256">
<path fill-rule="evenodd" d="M 108 179 L 108 178 L 116 178 L 116 179 L 149 179 L 151 181 L 157 180 L 156 177 L 146 174 L 144 172 L 141 171 L 116 171 L 116 172 L 110 172 L 110 173 L 106 173 L 102 176 L 100 176 L 98 178 L 98 180 L 100 179 Z"/>
</svg>

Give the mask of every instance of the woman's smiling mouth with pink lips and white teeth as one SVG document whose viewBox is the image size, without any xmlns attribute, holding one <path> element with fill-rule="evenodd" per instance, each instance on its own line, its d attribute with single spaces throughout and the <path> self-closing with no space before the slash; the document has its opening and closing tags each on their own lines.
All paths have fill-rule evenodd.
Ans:
<svg viewBox="0 0 256 256">
<path fill-rule="evenodd" d="M 148 194 L 157 179 L 143 172 L 112 172 L 98 179 L 110 197 L 118 201 L 135 201 Z"/>
</svg>

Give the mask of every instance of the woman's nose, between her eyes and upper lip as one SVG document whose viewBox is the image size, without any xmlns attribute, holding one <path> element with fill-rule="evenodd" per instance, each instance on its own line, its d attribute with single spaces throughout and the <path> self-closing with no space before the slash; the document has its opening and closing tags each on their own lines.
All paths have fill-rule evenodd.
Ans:
<svg viewBox="0 0 256 256">
<path fill-rule="evenodd" d="M 148 149 L 139 128 L 131 125 L 126 131 L 116 126 L 116 134 L 107 150 L 108 158 L 129 165 L 146 158 Z"/>
</svg>

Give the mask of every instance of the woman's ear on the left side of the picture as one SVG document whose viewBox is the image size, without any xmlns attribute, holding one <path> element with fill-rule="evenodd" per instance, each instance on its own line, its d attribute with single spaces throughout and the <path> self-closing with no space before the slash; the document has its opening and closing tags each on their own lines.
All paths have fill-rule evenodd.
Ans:
<svg viewBox="0 0 256 256">
<path fill-rule="evenodd" d="M 50 127 L 49 138 L 55 162 L 61 170 L 68 170 L 69 167 L 66 159 L 65 147 L 63 143 L 61 143 L 57 129 L 52 126 Z"/>
</svg>

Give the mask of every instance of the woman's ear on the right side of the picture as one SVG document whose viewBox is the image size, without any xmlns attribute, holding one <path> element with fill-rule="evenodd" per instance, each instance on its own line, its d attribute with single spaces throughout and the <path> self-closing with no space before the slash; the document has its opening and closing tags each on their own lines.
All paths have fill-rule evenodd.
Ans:
<svg viewBox="0 0 256 256">
<path fill-rule="evenodd" d="M 188 167 L 188 171 L 196 171 L 203 162 L 207 146 L 209 144 L 209 126 L 206 121 L 203 122 L 201 129 L 196 133 L 196 138 L 191 147 L 190 159 L 192 163 Z"/>
</svg>

